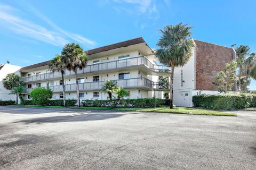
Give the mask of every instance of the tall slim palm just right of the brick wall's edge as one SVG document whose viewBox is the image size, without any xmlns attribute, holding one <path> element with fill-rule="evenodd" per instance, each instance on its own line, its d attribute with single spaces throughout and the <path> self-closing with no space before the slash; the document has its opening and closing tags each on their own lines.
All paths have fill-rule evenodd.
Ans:
<svg viewBox="0 0 256 170">
<path fill-rule="evenodd" d="M 242 91 L 242 84 L 241 84 L 241 73 L 242 69 L 246 60 L 246 56 L 249 55 L 249 46 L 240 45 L 236 48 L 236 62 L 237 62 L 237 68 L 239 68 L 238 72 L 238 83 L 239 83 L 239 89 Z"/>
</svg>

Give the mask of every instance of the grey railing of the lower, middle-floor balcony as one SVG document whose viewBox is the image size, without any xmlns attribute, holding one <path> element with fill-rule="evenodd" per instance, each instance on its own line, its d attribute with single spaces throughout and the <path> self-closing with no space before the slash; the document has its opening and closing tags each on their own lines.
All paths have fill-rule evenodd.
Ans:
<svg viewBox="0 0 256 170">
<path fill-rule="evenodd" d="M 156 90 L 169 90 L 170 83 L 159 83 L 148 80 L 146 78 L 133 78 L 133 79 L 122 79 L 115 80 L 119 87 L 123 88 L 148 88 L 153 89 L 156 86 Z M 79 90 L 100 90 L 104 81 L 98 82 L 85 82 L 79 83 Z M 46 88 L 46 87 L 44 87 Z M 62 85 L 49 86 L 53 92 L 62 92 Z M 26 88 L 26 93 L 30 93 L 35 88 Z M 76 84 L 65 84 L 65 91 L 76 91 Z"/>
</svg>

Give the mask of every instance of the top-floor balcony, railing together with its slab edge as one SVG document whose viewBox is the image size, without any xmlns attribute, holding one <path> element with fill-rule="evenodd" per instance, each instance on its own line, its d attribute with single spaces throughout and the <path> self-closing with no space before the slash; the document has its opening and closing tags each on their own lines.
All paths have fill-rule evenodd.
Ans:
<svg viewBox="0 0 256 170">
<path fill-rule="evenodd" d="M 151 75 L 166 75 L 170 74 L 171 71 L 168 69 L 168 67 L 163 65 L 156 65 L 151 63 L 145 56 L 141 57 L 134 57 L 134 58 L 128 58 L 125 60 L 117 60 L 117 61 L 111 61 L 106 63 L 100 63 L 100 64 L 93 64 L 93 65 L 87 65 L 82 70 L 77 70 L 77 74 L 93 74 L 95 72 L 106 72 L 106 71 L 126 71 L 126 70 L 132 70 L 134 67 L 139 66 L 138 69 L 141 71 L 148 72 Z M 141 67 L 142 66 L 142 67 Z M 65 71 L 65 77 L 68 77 L 70 75 L 75 75 L 74 71 Z M 33 81 L 42 81 L 42 80 L 50 80 L 50 79 L 57 79 L 61 78 L 60 72 L 50 72 L 50 73 L 44 73 L 44 74 L 38 74 L 33 75 L 30 77 L 23 77 L 21 78 L 24 82 L 33 82 Z"/>
</svg>

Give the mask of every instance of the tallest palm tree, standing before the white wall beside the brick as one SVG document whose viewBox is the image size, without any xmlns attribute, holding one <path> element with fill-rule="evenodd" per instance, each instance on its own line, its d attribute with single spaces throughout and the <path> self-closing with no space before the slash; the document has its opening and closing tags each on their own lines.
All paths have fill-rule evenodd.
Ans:
<svg viewBox="0 0 256 170">
<path fill-rule="evenodd" d="M 161 63 L 171 67 L 170 108 L 173 108 L 174 67 L 184 66 L 190 60 L 195 47 L 193 39 L 189 39 L 191 28 L 187 24 L 179 23 L 166 25 L 163 30 L 160 30 L 162 36 L 157 43 L 160 49 L 156 50 L 156 57 Z"/>
</svg>

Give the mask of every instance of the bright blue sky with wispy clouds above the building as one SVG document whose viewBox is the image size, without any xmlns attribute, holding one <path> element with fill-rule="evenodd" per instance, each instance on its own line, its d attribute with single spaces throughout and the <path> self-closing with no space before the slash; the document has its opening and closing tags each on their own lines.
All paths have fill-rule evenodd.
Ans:
<svg viewBox="0 0 256 170">
<path fill-rule="evenodd" d="M 44 62 L 71 42 L 88 50 L 143 37 L 157 49 L 159 29 L 180 22 L 193 27 L 195 39 L 256 52 L 255 6 L 249 0 L 0 0 L 0 63 Z"/>
</svg>

